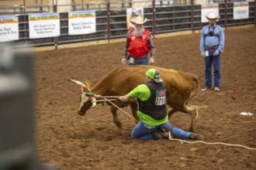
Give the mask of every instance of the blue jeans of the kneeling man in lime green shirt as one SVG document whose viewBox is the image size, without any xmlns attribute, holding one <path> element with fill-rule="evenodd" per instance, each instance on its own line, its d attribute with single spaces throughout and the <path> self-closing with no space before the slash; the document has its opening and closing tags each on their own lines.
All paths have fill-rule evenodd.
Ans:
<svg viewBox="0 0 256 170">
<path fill-rule="evenodd" d="M 137 138 L 139 140 L 150 140 L 154 139 L 154 135 L 151 134 L 153 131 L 157 131 L 159 128 L 164 128 L 165 131 L 172 131 L 174 138 L 180 138 L 180 139 L 189 139 L 189 134 L 191 132 L 189 131 L 183 131 L 180 128 L 172 128 L 169 121 L 166 121 L 164 124 L 160 124 L 157 126 L 150 126 L 147 124 L 144 124 L 143 121 L 140 121 L 134 128 L 131 134 L 132 138 Z"/>
</svg>

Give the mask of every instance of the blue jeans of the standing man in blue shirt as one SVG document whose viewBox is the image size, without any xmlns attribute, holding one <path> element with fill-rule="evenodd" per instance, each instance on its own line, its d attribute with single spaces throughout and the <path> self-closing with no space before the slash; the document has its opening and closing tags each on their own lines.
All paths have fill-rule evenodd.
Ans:
<svg viewBox="0 0 256 170">
<path fill-rule="evenodd" d="M 214 70 L 214 87 L 220 87 L 220 54 L 213 56 L 216 49 L 209 50 L 209 56 L 205 59 L 206 88 L 212 88 L 212 63 Z"/>
</svg>

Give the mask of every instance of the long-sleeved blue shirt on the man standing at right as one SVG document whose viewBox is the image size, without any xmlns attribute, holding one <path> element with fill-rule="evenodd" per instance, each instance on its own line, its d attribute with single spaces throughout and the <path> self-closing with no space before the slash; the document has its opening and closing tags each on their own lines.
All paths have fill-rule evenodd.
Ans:
<svg viewBox="0 0 256 170">
<path fill-rule="evenodd" d="M 208 32 L 213 31 L 214 36 L 208 36 Z M 223 29 L 214 25 L 213 27 L 207 25 L 202 28 L 202 34 L 200 39 L 200 53 L 204 54 L 206 49 L 205 46 L 218 46 L 216 49 L 218 53 L 223 53 L 225 43 L 225 36 Z"/>
</svg>

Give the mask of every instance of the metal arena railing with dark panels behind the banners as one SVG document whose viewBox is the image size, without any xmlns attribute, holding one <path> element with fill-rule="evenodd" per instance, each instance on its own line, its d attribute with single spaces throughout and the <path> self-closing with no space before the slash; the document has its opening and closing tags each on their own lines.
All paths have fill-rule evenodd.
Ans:
<svg viewBox="0 0 256 170">
<path fill-rule="evenodd" d="M 25 0 L 24 0 L 25 1 Z M 54 1 L 53 1 L 54 2 Z M 201 22 L 201 5 L 190 1 L 152 0 L 136 2 L 136 6 L 144 5 L 144 18 L 147 18 L 145 28 L 153 35 L 165 32 L 178 32 L 184 30 L 202 29 L 208 23 Z M 219 1 L 220 21 L 218 24 L 227 26 L 240 26 L 255 24 L 255 0 L 249 2 L 249 19 L 233 19 L 233 2 Z M 126 8 L 132 8 L 134 2 L 85 2 L 75 0 L 71 4 L 61 5 L 0 5 L 0 15 L 19 16 L 19 40 L 13 46 L 50 46 L 71 42 L 87 42 L 100 39 L 116 39 L 126 37 Z M 29 13 L 59 12 L 61 8 L 70 11 L 60 12 L 61 36 L 43 39 L 29 39 Z M 85 35 L 68 35 L 68 12 L 95 10 L 96 32 Z M 1 45 L 1 43 L 0 43 Z"/>
</svg>

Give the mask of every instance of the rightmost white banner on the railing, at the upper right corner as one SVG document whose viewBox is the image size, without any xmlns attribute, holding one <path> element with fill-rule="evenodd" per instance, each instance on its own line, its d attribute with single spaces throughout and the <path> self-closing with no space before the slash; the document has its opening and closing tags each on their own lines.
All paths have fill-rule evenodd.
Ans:
<svg viewBox="0 0 256 170">
<path fill-rule="evenodd" d="M 234 19 L 249 19 L 248 2 L 234 2 Z"/>
</svg>

